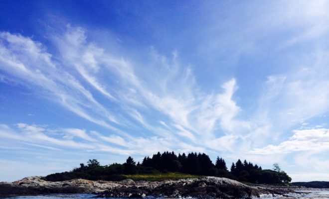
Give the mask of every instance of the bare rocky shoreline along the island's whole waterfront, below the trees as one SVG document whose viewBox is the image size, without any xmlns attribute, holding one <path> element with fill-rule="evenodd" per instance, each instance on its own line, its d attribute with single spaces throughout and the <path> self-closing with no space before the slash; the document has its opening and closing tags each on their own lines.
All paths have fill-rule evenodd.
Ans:
<svg viewBox="0 0 329 199">
<path fill-rule="evenodd" d="M 61 182 L 27 177 L 12 183 L 0 183 L 0 197 L 10 195 L 41 195 L 94 193 L 104 198 L 196 197 L 221 199 L 250 199 L 262 195 L 289 195 L 293 189 L 276 186 L 248 186 L 227 178 L 202 177 L 177 181 L 89 181 L 74 179 Z"/>
</svg>

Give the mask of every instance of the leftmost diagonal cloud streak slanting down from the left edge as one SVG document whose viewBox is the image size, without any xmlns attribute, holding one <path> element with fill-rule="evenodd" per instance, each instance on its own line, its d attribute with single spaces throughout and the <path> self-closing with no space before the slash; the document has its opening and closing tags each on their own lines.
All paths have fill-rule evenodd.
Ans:
<svg viewBox="0 0 329 199">
<path fill-rule="evenodd" d="M 117 130 L 106 120 L 100 119 L 99 114 L 106 115 L 107 110 L 72 75 L 56 66 L 52 55 L 41 43 L 21 35 L 1 32 L 0 52 L 0 69 L 8 73 L 12 81 L 28 88 L 36 87 L 34 91 L 42 97 L 91 122 Z M 90 114 L 91 107 L 96 115 Z"/>
</svg>

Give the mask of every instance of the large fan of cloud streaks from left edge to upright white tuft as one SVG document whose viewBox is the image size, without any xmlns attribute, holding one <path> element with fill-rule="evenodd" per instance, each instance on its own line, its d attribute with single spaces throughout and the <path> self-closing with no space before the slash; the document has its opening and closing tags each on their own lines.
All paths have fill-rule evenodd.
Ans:
<svg viewBox="0 0 329 199">
<path fill-rule="evenodd" d="M 151 150 L 155 147 L 152 142 L 163 143 L 168 150 L 198 148 L 204 151 L 210 140 L 215 145 L 226 133 L 236 132 L 237 123 L 248 125 L 234 119 L 240 110 L 232 100 L 237 89 L 236 80 L 228 80 L 218 94 L 203 93 L 198 89 L 191 68 L 185 68 L 179 62 L 176 52 L 169 59 L 151 49 L 151 64 L 145 66 L 155 77 L 150 78 L 135 72 L 141 67 L 139 63 L 118 58 L 89 42 L 85 30 L 80 27 L 68 25 L 64 32 L 58 32 L 52 38 L 60 51 L 60 59 L 56 62 L 41 43 L 21 35 L 1 33 L 1 49 L 5 52 L 1 59 L 2 70 L 28 86 L 41 88 L 43 97 L 55 100 L 113 133 L 110 137 L 94 133 L 98 138 L 124 147 L 133 147 L 129 141 L 132 140 L 138 145 L 149 145 L 150 153 L 155 151 Z M 18 47 L 23 48 L 19 53 L 15 50 Z M 35 58 L 31 60 L 32 55 Z M 160 66 L 161 70 L 155 66 Z M 95 91 L 105 99 L 96 100 Z M 113 108 L 120 111 L 115 112 Z M 154 115 L 159 114 L 161 116 L 155 120 Z M 127 129 L 134 129 L 135 135 L 127 133 Z M 143 138 L 143 129 L 157 136 Z M 63 130 L 67 138 L 79 137 L 95 142 L 85 130 Z M 236 134 L 236 137 L 240 136 L 238 131 Z M 192 147 L 192 144 L 196 146 Z M 136 149 L 135 153 L 141 152 Z"/>
</svg>

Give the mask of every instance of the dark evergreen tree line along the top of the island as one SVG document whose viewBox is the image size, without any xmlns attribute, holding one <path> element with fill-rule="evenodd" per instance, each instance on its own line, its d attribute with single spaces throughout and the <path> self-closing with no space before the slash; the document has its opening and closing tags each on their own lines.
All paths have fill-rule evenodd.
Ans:
<svg viewBox="0 0 329 199">
<path fill-rule="evenodd" d="M 278 166 L 278 165 L 277 165 Z M 81 163 L 80 167 L 74 168 L 70 172 L 55 173 L 46 176 L 47 181 L 63 181 L 76 178 L 87 180 L 110 180 L 118 181 L 126 177 L 123 175 L 131 174 L 157 174 L 165 172 L 179 172 L 200 176 L 225 177 L 233 180 L 261 183 L 261 184 L 281 184 L 288 183 L 291 178 L 280 169 L 263 170 L 257 164 L 243 162 L 239 159 L 232 163 L 230 171 L 226 166 L 224 159 L 217 157 L 215 164 L 212 163 L 209 156 L 205 153 L 191 152 L 176 155 L 174 152 L 164 152 L 148 156 L 143 161 L 135 162 L 132 157 L 128 157 L 124 164 L 114 163 L 101 166 L 93 159 L 87 162 L 87 165 Z"/>
</svg>

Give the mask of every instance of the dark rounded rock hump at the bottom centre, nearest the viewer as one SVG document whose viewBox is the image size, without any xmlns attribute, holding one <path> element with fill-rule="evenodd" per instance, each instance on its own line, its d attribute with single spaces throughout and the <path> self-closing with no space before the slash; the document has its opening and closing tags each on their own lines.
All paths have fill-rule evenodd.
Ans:
<svg viewBox="0 0 329 199">
<path fill-rule="evenodd" d="M 139 182 L 131 186 L 111 187 L 100 194 L 102 197 L 142 198 L 154 197 L 197 197 L 197 198 L 251 198 L 259 196 L 257 189 L 234 180 L 217 177 L 203 177 L 198 179 L 181 179 L 178 181 L 149 182 L 142 186 Z"/>
</svg>

